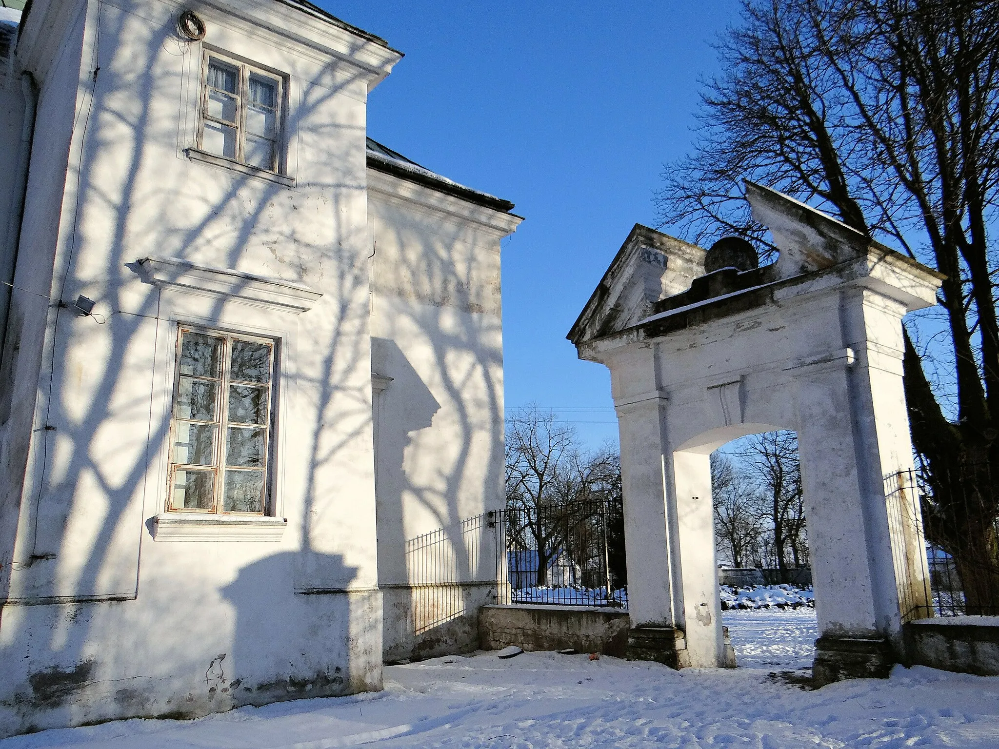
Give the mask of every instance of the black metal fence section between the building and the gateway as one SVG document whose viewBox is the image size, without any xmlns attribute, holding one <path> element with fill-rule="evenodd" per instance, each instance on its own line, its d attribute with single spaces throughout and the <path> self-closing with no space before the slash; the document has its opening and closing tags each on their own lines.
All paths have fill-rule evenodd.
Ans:
<svg viewBox="0 0 999 749">
<path fill-rule="evenodd" d="M 498 603 L 627 605 L 619 502 L 507 507 L 489 520 L 496 527 Z"/>
</svg>

